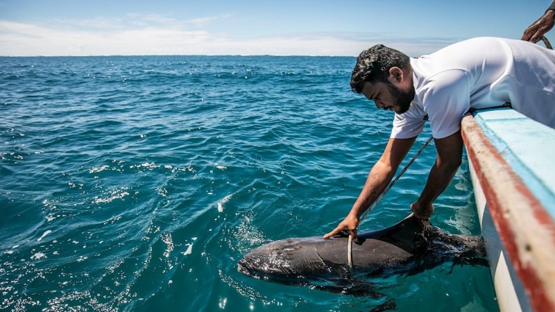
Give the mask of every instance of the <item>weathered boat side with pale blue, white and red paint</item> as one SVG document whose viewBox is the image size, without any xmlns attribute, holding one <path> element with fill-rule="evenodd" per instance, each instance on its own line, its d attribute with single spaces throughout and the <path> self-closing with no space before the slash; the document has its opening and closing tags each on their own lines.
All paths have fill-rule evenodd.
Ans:
<svg viewBox="0 0 555 312">
<path fill-rule="evenodd" d="M 503 108 L 461 132 L 499 309 L 555 311 L 555 130 Z"/>
</svg>

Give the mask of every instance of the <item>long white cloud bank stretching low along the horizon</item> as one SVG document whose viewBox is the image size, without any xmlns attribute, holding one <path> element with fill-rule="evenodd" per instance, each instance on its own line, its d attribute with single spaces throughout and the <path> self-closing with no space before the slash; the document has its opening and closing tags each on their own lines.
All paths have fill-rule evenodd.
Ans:
<svg viewBox="0 0 555 312">
<path fill-rule="evenodd" d="M 56 21 L 49 26 L 0 20 L 1 55 L 357 55 L 384 43 L 409 55 L 450 42 L 382 40 L 382 35 L 297 33 L 237 39 L 228 33 L 188 29 L 221 17 L 178 21 L 161 15 L 129 20 Z M 189 26 L 187 26 L 189 24 Z"/>
</svg>

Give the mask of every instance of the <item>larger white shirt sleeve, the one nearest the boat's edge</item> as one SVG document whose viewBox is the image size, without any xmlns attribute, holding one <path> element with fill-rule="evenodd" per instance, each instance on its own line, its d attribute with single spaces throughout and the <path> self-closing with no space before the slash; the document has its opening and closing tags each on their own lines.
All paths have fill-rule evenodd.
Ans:
<svg viewBox="0 0 555 312">
<path fill-rule="evenodd" d="M 470 83 L 465 71 L 442 71 L 427 80 L 418 94 L 428 114 L 434 139 L 443 139 L 461 129 L 470 109 Z"/>
</svg>

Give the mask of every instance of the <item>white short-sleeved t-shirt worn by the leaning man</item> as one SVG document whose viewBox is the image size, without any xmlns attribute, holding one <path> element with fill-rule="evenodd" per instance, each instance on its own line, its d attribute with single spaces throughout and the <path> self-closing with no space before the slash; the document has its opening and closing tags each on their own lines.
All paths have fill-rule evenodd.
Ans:
<svg viewBox="0 0 555 312">
<path fill-rule="evenodd" d="M 555 51 L 522 40 L 479 37 L 411 58 L 416 96 L 395 114 L 391 137 L 415 137 L 428 116 L 442 139 L 461 128 L 470 108 L 511 103 L 514 110 L 555 128 Z"/>
</svg>

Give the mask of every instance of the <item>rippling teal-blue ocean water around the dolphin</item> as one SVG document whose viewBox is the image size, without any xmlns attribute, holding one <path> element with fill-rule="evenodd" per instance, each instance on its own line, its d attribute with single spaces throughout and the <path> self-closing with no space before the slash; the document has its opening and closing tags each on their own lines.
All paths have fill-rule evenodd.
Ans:
<svg viewBox="0 0 555 312">
<path fill-rule="evenodd" d="M 370 311 L 382 299 L 237 272 L 249 250 L 330 232 L 392 112 L 350 91 L 355 58 L 0 58 L 0 310 Z M 420 135 L 409 157 L 429 137 Z M 397 223 L 420 155 L 359 230 Z M 404 164 L 408 161 L 407 157 Z M 402 166 L 404 166 L 402 164 Z M 468 163 L 432 223 L 479 235 Z M 489 268 L 376 279 L 398 311 L 498 311 Z"/>
</svg>

